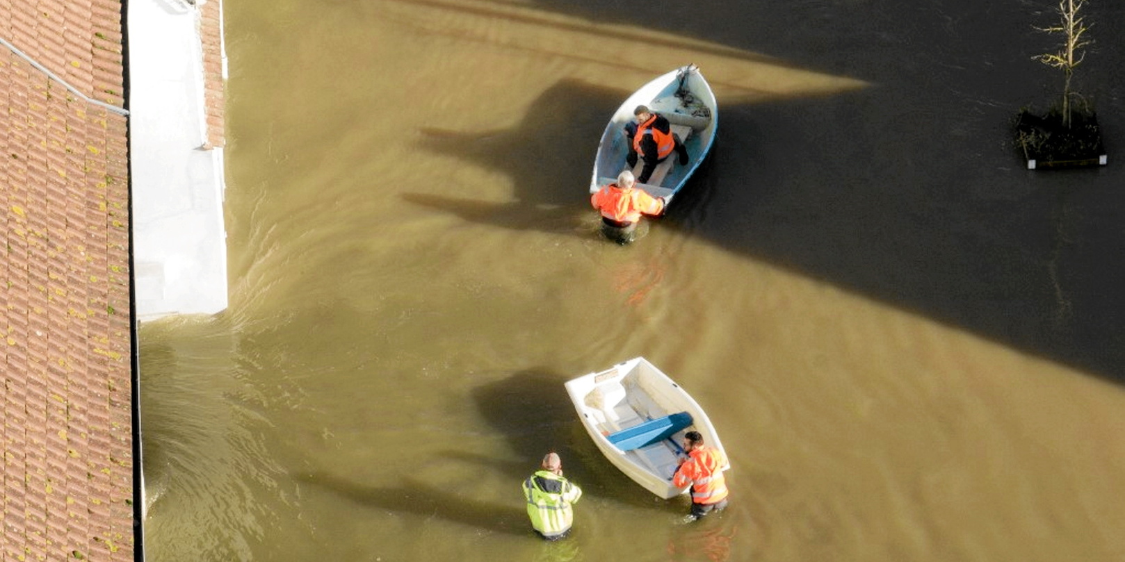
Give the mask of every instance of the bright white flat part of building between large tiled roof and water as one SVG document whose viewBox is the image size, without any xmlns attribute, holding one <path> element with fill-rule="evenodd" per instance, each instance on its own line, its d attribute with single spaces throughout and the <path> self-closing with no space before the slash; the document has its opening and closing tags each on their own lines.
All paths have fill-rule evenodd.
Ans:
<svg viewBox="0 0 1125 562">
<path fill-rule="evenodd" d="M 196 8 L 129 0 L 129 140 L 137 318 L 227 306 L 223 149 L 207 137 Z M 225 55 L 224 55 L 225 56 Z"/>
</svg>

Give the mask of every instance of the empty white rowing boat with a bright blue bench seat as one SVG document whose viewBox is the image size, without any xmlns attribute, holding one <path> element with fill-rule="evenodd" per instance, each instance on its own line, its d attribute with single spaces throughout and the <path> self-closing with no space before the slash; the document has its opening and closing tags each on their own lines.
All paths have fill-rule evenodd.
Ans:
<svg viewBox="0 0 1125 562">
<path fill-rule="evenodd" d="M 645 357 L 567 381 L 566 391 L 605 457 L 664 499 L 687 491 L 672 486 L 685 433 L 699 432 L 706 445 L 722 450 L 703 408 Z"/>
</svg>

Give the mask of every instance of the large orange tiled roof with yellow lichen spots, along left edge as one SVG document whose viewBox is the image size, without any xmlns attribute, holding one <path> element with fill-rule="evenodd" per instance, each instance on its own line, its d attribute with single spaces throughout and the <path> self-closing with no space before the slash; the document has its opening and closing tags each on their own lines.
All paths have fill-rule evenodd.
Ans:
<svg viewBox="0 0 1125 562">
<path fill-rule="evenodd" d="M 133 560 L 127 118 L 83 98 L 123 106 L 122 0 L 0 0 L 0 38 L 42 66 L 0 45 L 0 560 Z"/>
</svg>

